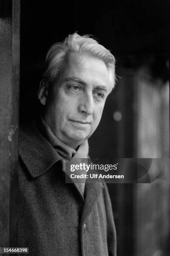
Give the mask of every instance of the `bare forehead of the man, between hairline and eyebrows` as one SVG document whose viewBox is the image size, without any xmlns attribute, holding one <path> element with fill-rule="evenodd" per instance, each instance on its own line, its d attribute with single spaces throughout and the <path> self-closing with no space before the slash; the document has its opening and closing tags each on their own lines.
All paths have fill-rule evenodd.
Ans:
<svg viewBox="0 0 170 256">
<path fill-rule="evenodd" d="M 105 85 L 109 89 L 109 72 L 105 63 L 85 54 L 70 53 L 63 78 L 78 77 L 87 84 Z"/>
</svg>

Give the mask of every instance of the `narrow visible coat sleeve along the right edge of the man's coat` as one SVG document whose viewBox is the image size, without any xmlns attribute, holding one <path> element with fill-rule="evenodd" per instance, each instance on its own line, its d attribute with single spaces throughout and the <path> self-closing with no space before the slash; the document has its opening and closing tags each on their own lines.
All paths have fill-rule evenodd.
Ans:
<svg viewBox="0 0 170 256">
<path fill-rule="evenodd" d="M 104 197 L 105 197 L 105 209 L 107 216 L 107 246 L 109 256 L 116 256 L 117 251 L 117 241 L 116 241 L 116 229 L 113 219 L 112 205 L 110 201 L 109 192 L 107 185 L 104 185 Z"/>
</svg>

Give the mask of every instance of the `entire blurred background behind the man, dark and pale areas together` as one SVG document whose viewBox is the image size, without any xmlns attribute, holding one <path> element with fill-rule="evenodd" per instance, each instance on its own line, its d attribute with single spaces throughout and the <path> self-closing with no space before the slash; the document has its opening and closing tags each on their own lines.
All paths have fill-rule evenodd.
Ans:
<svg viewBox="0 0 170 256">
<path fill-rule="evenodd" d="M 21 0 L 20 121 L 40 109 L 48 48 L 68 33 L 90 34 L 117 61 L 117 84 L 90 138 L 90 156 L 169 158 L 168 7 L 168 0 Z M 170 255 L 169 182 L 107 184 L 117 256 Z"/>
</svg>

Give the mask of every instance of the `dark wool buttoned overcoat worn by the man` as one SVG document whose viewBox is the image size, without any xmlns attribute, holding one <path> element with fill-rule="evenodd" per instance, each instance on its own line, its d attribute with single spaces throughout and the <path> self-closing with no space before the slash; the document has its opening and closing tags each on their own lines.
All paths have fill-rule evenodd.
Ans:
<svg viewBox="0 0 170 256">
<path fill-rule="evenodd" d="M 106 185 L 88 183 L 84 199 L 65 183 L 59 155 L 35 127 L 20 132 L 19 153 L 18 246 L 36 256 L 115 256 Z"/>
</svg>

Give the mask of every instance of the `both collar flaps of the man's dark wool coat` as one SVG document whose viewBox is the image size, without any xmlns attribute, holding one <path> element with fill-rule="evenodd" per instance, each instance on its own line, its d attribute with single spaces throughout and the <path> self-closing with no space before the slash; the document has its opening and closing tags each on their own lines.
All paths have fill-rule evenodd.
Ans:
<svg viewBox="0 0 170 256">
<path fill-rule="evenodd" d="M 42 136 L 34 123 L 29 128 L 20 129 L 19 155 L 33 178 L 47 172 L 57 161 L 62 162 L 55 148 Z M 77 188 L 76 184 L 73 185 Z M 82 201 L 85 202 L 82 219 L 89 214 L 102 188 L 103 184 L 98 180 L 87 183 L 85 201 L 79 191 Z"/>
</svg>

